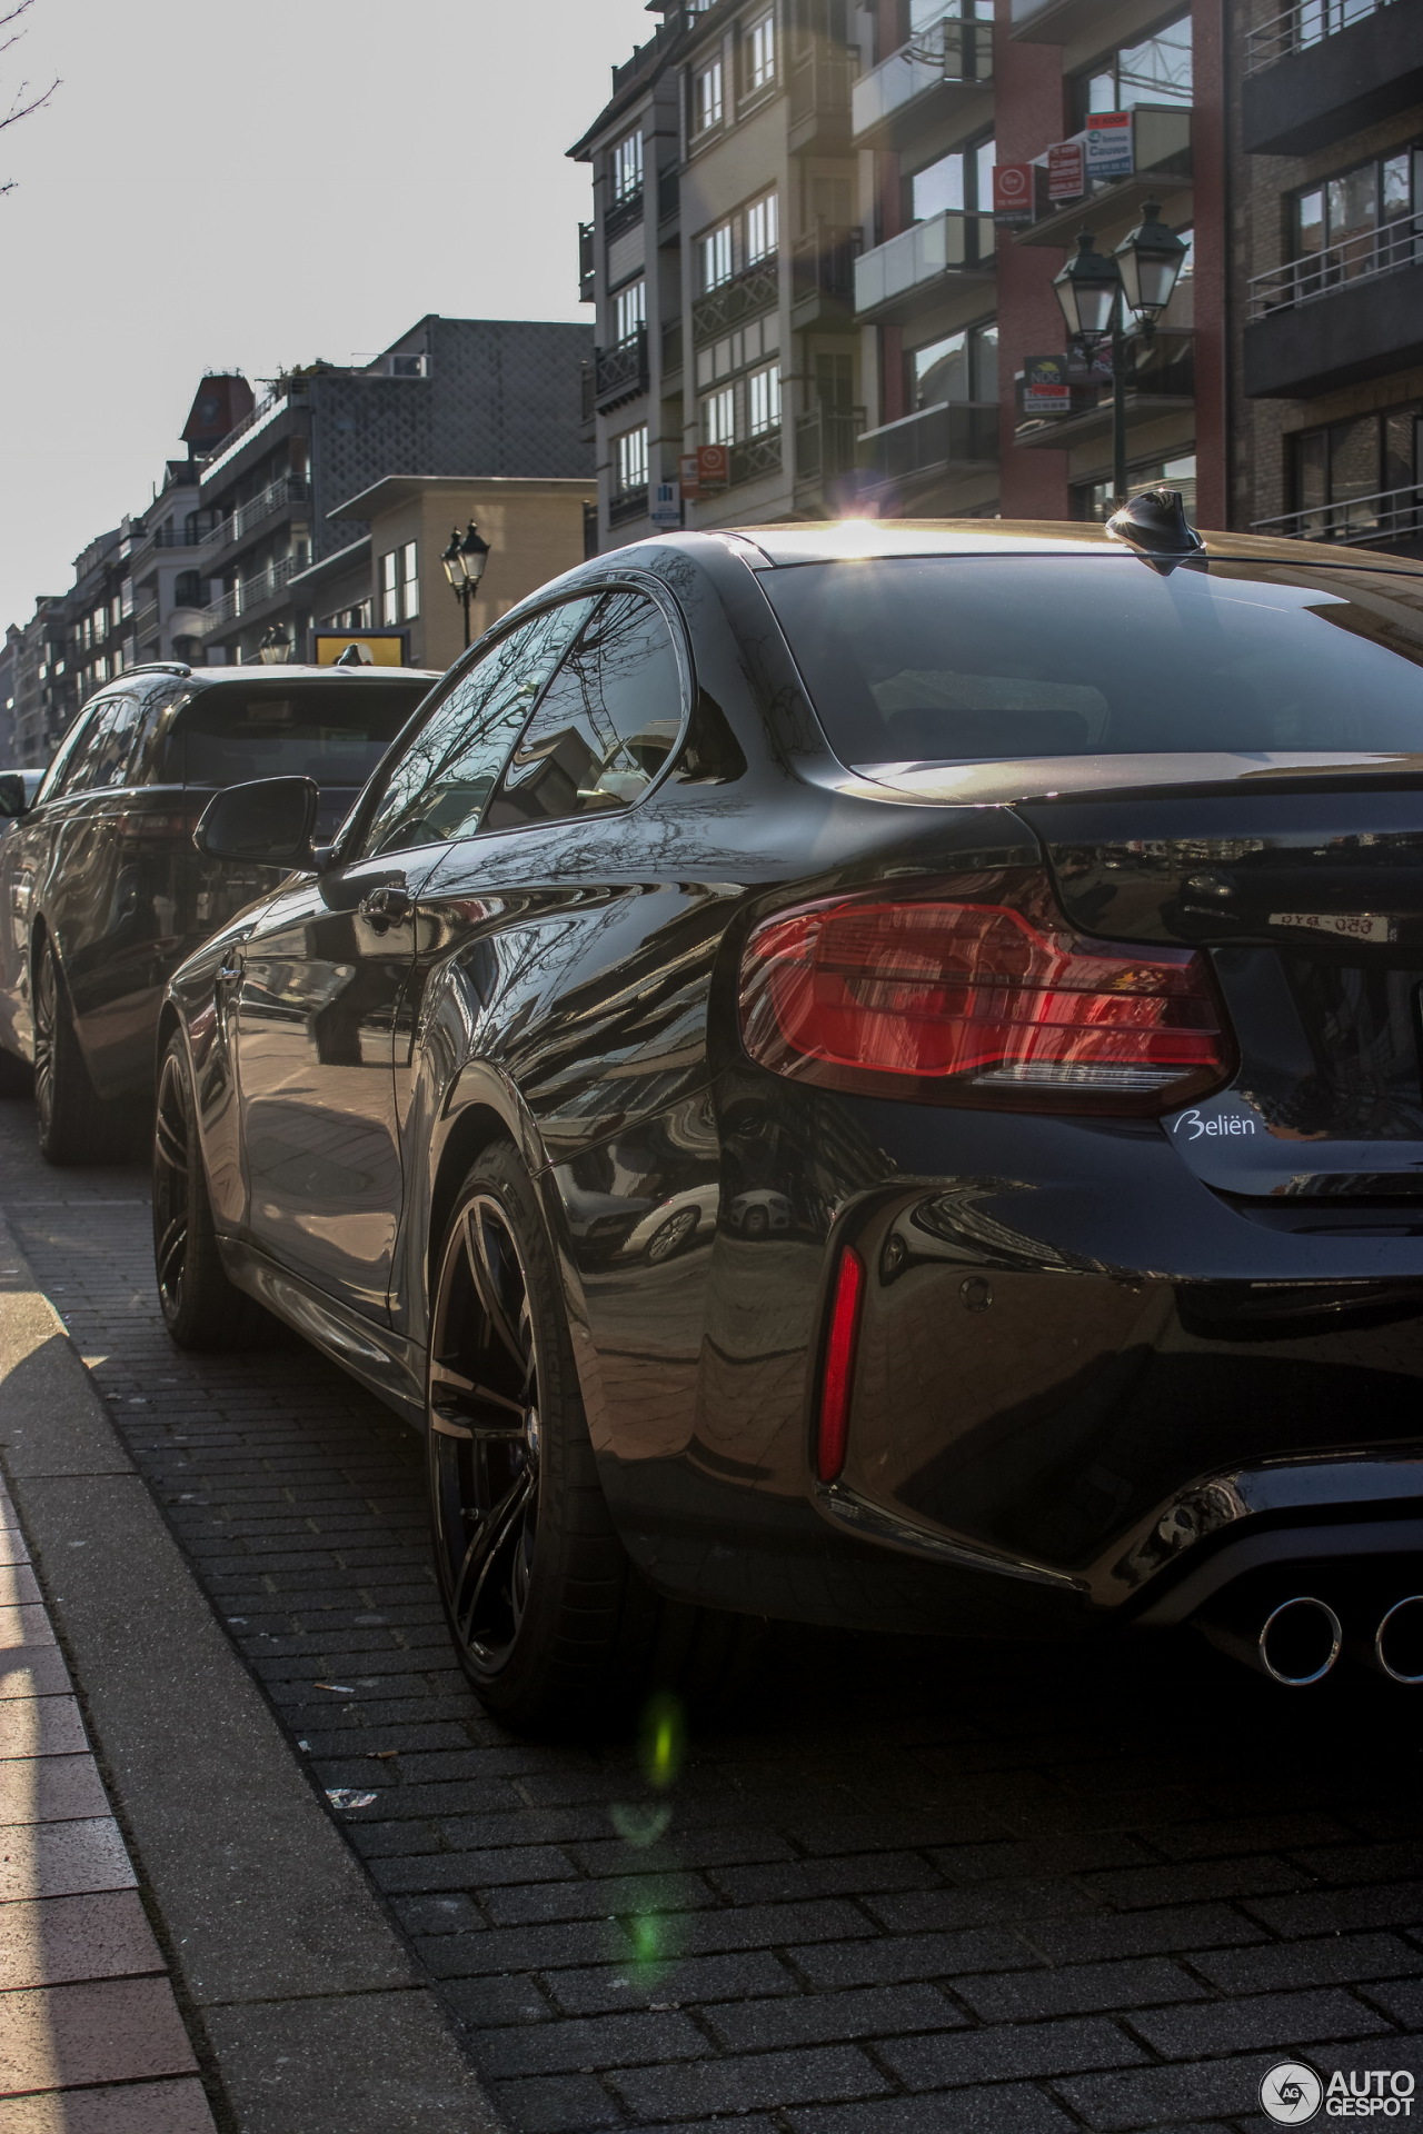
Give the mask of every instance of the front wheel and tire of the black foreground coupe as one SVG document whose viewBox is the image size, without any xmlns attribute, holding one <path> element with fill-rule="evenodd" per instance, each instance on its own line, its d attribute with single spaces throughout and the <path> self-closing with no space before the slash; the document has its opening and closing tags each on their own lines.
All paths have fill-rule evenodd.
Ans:
<svg viewBox="0 0 1423 2134">
<path fill-rule="evenodd" d="M 245 1349 L 273 1332 L 262 1306 L 228 1280 L 218 1253 L 188 1048 L 177 1031 L 158 1071 L 154 1274 L 162 1323 L 177 1349 Z"/>
</svg>

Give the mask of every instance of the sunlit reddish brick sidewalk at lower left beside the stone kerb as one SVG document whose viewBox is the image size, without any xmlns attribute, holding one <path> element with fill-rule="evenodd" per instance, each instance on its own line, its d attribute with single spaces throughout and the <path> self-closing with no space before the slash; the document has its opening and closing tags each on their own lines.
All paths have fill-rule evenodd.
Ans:
<svg viewBox="0 0 1423 2134">
<path fill-rule="evenodd" d="M 213 2134 L 0 1483 L 0 2134 Z"/>
</svg>

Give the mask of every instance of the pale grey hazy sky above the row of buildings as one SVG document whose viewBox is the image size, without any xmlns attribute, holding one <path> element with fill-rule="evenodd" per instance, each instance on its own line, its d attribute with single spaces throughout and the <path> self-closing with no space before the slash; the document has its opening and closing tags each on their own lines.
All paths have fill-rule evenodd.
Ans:
<svg viewBox="0 0 1423 2134">
<path fill-rule="evenodd" d="M 13 0 L 4 0 L 13 4 Z M 0 4 L 0 13 L 4 13 Z M 34 0 L 0 58 L 0 630 L 141 512 L 207 369 L 572 318 L 565 160 L 644 0 Z"/>
</svg>

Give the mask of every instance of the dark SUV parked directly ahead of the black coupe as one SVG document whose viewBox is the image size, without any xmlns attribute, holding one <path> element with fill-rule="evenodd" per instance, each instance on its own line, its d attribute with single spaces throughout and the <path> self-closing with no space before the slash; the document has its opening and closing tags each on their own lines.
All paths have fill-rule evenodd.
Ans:
<svg viewBox="0 0 1423 2134">
<path fill-rule="evenodd" d="M 73 721 L 36 787 L 0 777 L 0 1090 L 34 1082 L 51 1163 L 107 1152 L 151 1099 L 169 973 L 282 869 L 201 858 L 215 787 L 299 773 L 329 837 L 433 674 L 130 668 Z"/>
</svg>

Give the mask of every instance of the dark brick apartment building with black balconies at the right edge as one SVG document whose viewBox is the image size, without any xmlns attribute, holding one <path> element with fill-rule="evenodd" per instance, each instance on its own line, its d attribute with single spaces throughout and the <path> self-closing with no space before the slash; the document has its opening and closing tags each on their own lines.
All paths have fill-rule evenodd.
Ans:
<svg viewBox="0 0 1423 2134">
<path fill-rule="evenodd" d="M 1242 525 L 1423 555 L 1423 4 L 1237 11 Z"/>
</svg>

